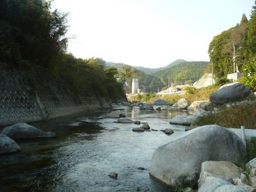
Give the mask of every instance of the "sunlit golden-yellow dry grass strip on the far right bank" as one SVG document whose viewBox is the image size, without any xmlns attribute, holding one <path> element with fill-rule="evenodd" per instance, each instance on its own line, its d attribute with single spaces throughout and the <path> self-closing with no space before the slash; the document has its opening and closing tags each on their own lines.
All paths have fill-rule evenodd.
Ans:
<svg viewBox="0 0 256 192">
<path fill-rule="evenodd" d="M 185 98 L 190 104 L 194 101 L 207 101 L 210 99 L 210 94 L 216 91 L 218 88 L 218 86 L 209 86 L 197 89 L 195 91 L 187 91 L 187 93 L 183 95 L 155 95 L 155 97 L 151 98 L 148 102 L 152 103 L 156 98 L 163 99 L 169 102 L 171 105 L 178 102 L 178 100 L 181 98 Z"/>
</svg>

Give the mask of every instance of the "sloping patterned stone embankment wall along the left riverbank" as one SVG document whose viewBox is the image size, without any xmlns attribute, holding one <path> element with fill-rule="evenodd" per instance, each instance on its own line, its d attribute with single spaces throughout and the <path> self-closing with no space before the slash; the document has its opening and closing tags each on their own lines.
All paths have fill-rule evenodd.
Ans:
<svg viewBox="0 0 256 192">
<path fill-rule="evenodd" d="M 59 78 L 45 71 L 34 74 L 35 85 L 24 70 L 0 64 L 0 126 L 17 122 L 35 122 L 83 110 L 96 109 L 106 104 L 93 93 L 76 96 Z"/>
</svg>

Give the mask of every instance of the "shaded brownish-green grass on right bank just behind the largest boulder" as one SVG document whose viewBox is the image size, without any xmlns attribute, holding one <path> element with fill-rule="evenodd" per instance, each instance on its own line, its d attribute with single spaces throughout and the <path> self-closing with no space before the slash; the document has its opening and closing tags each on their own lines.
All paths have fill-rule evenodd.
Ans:
<svg viewBox="0 0 256 192">
<path fill-rule="evenodd" d="M 256 129 L 256 103 L 246 103 L 231 107 L 221 107 L 218 113 L 211 113 L 198 118 L 197 125 L 217 124 L 222 127 Z"/>
</svg>

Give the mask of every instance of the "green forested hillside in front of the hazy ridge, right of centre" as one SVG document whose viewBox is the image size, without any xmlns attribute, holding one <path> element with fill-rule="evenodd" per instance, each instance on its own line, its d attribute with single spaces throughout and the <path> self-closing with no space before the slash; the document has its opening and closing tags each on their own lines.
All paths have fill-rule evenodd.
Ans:
<svg viewBox="0 0 256 192">
<path fill-rule="evenodd" d="M 201 78 L 203 71 L 209 62 L 205 61 L 193 61 L 183 62 L 179 65 L 171 66 L 167 69 L 159 70 L 152 74 L 155 77 L 161 79 L 163 83 L 168 83 L 168 77 L 170 76 L 170 82 L 177 84 L 193 83 Z"/>
</svg>

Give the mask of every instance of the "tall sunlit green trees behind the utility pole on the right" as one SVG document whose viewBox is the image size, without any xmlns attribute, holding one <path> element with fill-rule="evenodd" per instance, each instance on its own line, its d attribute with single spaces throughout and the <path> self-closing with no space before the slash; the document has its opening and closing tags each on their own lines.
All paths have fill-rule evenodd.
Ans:
<svg viewBox="0 0 256 192">
<path fill-rule="evenodd" d="M 208 53 L 218 78 L 233 73 L 235 58 L 235 68 L 243 73 L 240 81 L 256 91 L 256 2 L 250 19 L 243 14 L 236 26 L 215 36 L 209 45 Z"/>
</svg>

